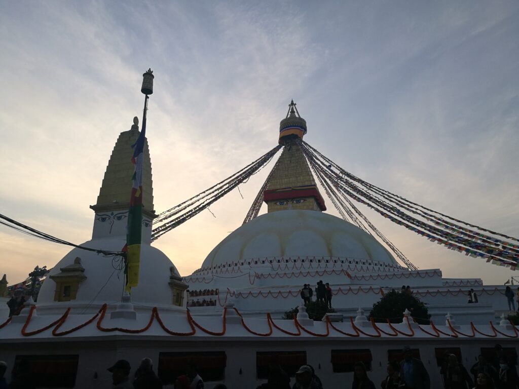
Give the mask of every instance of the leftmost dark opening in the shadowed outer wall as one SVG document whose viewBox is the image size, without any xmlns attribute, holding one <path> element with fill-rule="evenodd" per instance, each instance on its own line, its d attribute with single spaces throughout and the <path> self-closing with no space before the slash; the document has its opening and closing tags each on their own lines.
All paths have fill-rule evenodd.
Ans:
<svg viewBox="0 0 519 389">
<path fill-rule="evenodd" d="M 79 355 L 17 355 L 13 375 L 33 377 L 37 388 L 74 387 Z"/>
</svg>

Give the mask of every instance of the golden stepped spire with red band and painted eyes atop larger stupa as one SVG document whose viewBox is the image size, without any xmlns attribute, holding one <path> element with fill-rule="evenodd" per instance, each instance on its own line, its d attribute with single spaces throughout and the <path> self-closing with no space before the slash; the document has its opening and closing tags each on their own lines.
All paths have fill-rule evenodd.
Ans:
<svg viewBox="0 0 519 389">
<path fill-rule="evenodd" d="M 292 100 L 286 118 L 279 123 L 279 143 L 284 145 L 283 152 L 263 193 L 268 212 L 292 209 L 326 211 L 324 200 L 299 146 L 306 132 L 306 120 L 299 116 L 296 103 Z"/>
</svg>

